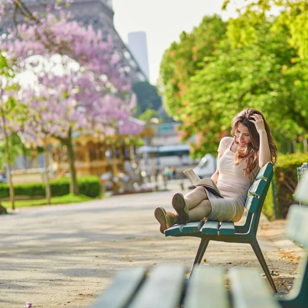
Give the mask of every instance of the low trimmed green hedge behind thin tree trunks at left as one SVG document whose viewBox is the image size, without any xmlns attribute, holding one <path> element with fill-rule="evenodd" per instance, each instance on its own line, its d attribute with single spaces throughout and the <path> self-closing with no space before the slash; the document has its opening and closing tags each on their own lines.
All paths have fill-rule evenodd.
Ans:
<svg viewBox="0 0 308 308">
<path fill-rule="evenodd" d="M 89 176 L 77 179 L 79 192 L 92 198 L 101 195 L 101 184 L 98 177 Z M 69 178 L 60 178 L 50 181 L 51 196 L 64 196 L 69 194 Z M 15 196 L 45 196 L 45 183 L 29 183 L 14 185 Z M 9 185 L 0 183 L 0 199 L 9 198 Z"/>
</svg>

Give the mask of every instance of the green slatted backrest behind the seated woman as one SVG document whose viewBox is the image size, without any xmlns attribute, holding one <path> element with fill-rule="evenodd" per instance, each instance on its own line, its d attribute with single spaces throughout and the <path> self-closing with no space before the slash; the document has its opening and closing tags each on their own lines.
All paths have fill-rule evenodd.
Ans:
<svg viewBox="0 0 308 308">
<path fill-rule="evenodd" d="M 257 233 L 261 210 L 267 190 L 273 178 L 273 167 L 274 165 L 272 163 L 267 163 L 263 166 L 248 190 L 245 202 L 245 208 L 248 210 L 245 227 L 252 230 L 255 234 Z"/>
</svg>

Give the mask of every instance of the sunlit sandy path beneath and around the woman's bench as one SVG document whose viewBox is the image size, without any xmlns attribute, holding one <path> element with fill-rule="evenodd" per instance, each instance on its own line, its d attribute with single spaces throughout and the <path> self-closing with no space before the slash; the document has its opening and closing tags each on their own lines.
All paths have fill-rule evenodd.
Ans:
<svg viewBox="0 0 308 308">
<path fill-rule="evenodd" d="M 171 210 L 171 192 L 123 195 L 91 202 L 23 208 L 0 216 L 0 307 L 87 307 L 118 269 L 194 260 L 199 240 L 165 238 L 153 209 Z M 278 275 L 292 286 L 301 254 L 281 236 L 281 224 L 261 219 L 259 243 Z M 274 240 L 274 241 L 273 241 Z M 283 244 L 281 250 L 277 244 Z M 293 259 L 292 259 L 293 258 Z M 249 245 L 210 242 L 202 266 L 260 265 Z"/>
</svg>

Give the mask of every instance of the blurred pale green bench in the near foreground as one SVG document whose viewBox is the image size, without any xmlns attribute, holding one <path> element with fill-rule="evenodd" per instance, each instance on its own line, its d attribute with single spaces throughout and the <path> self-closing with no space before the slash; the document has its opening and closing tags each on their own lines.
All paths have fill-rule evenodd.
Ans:
<svg viewBox="0 0 308 308">
<path fill-rule="evenodd" d="M 293 205 L 286 234 L 308 248 L 308 209 Z M 256 269 L 196 266 L 190 279 L 178 265 L 157 265 L 118 272 L 113 283 L 91 308 L 304 308 L 308 306 L 308 257 L 301 260 L 300 277 L 286 296 L 274 296 Z"/>
</svg>

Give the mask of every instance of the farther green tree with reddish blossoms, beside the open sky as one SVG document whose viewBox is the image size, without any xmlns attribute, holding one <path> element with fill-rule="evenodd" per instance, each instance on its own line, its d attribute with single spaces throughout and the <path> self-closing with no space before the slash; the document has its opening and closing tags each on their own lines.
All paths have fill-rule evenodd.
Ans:
<svg viewBox="0 0 308 308">
<path fill-rule="evenodd" d="M 226 32 L 226 23 L 218 15 L 205 16 L 190 33 L 182 32 L 180 42 L 165 51 L 160 65 L 160 85 L 167 113 L 178 119 L 183 97 L 192 76 L 202 69 L 204 57 L 209 57 Z"/>
</svg>

